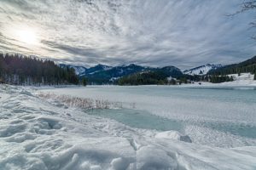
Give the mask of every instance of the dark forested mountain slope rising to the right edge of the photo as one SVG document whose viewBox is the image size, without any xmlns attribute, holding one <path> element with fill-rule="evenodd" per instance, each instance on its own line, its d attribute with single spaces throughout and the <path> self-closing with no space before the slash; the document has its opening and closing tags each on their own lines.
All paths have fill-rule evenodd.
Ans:
<svg viewBox="0 0 256 170">
<path fill-rule="evenodd" d="M 225 65 L 224 67 L 218 68 L 214 71 L 209 71 L 209 74 L 214 75 L 229 75 L 239 73 L 252 73 L 256 74 L 256 56 L 251 59 L 247 59 L 238 64 Z"/>
</svg>

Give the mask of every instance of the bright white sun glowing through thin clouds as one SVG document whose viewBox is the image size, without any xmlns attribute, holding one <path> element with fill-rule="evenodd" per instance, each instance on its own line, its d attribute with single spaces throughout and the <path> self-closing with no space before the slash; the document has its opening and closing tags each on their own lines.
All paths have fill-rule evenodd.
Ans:
<svg viewBox="0 0 256 170">
<path fill-rule="evenodd" d="M 15 31 L 15 39 L 26 44 L 35 45 L 38 43 L 36 31 L 31 28 L 21 29 Z"/>
</svg>

